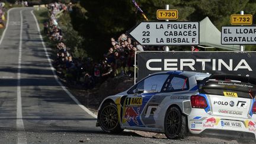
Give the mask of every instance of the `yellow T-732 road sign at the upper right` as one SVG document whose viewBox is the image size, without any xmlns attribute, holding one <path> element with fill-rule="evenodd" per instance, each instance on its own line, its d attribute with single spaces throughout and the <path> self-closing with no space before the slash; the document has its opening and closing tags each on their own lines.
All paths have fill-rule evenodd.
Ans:
<svg viewBox="0 0 256 144">
<path fill-rule="evenodd" d="M 252 24 L 252 15 L 251 14 L 232 14 L 231 15 L 231 24 L 233 25 L 251 25 Z"/>
</svg>

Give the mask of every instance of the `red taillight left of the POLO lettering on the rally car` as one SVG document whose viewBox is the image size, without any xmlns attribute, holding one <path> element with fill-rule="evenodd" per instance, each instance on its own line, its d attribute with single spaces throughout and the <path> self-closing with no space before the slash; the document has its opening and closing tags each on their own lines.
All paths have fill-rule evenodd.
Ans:
<svg viewBox="0 0 256 144">
<path fill-rule="evenodd" d="M 191 95 L 190 102 L 191 102 L 192 108 L 206 108 L 207 107 L 206 99 L 200 95 Z"/>
</svg>

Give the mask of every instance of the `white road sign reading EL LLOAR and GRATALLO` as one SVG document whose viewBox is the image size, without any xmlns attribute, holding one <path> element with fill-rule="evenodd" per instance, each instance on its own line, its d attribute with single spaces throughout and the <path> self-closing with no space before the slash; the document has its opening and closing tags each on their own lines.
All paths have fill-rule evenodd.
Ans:
<svg viewBox="0 0 256 144">
<path fill-rule="evenodd" d="M 221 44 L 256 44 L 256 26 L 223 26 Z"/>
</svg>

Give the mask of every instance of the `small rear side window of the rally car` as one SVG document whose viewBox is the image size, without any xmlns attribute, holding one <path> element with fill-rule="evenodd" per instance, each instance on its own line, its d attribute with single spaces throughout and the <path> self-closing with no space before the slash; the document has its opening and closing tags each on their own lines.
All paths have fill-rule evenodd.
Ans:
<svg viewBox="0 0 256 144">
<path fill-rule="evenodd" d="M 185 91 L 189 89 L 188 78 L 185 76 L 173 76 L 165 86 L 164 92 Z"/>
</svg>

